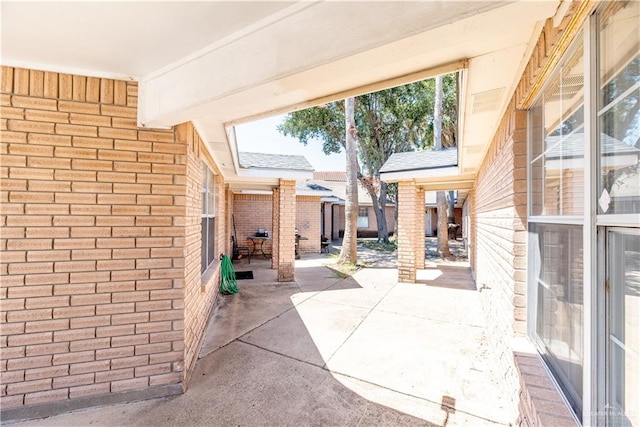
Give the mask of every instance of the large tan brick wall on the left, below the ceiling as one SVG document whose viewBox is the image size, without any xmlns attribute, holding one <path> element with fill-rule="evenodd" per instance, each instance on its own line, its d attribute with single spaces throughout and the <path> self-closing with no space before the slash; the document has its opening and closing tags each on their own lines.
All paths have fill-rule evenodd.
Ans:
<svg viewBox="0 0 640 427">
<path fill-rule="evenodd" d="M 206 321 L 203 304 L 197 321 L 184 314 L 200 292 L 199 253 L 185 256 L 199 244 L 197 148 L 177 131 L 138 129 L 137 90 L 2 67 L 5 414 L 182 389 Z"/>
</svg>

